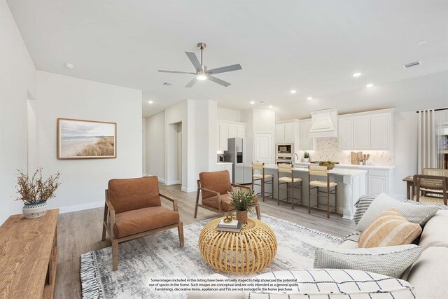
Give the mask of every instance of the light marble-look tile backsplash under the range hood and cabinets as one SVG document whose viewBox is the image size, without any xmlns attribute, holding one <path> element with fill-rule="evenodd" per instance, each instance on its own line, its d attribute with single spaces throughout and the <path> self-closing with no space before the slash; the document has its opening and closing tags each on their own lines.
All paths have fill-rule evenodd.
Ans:
<svg viewBox="0 0 448 299">
<path fill-rule="evenodd" d="M 356 151 L 358 152 L 358 151 Z M 392 151 L 362 151 L 364 154 L 370 154 L 367 161 L 369 165 L 393 166 L 394 158 Z M 337 138 L 318 138 L 316 139 L 316 150 L 309 151 L 311 161 L 332 160 L 341 164 L 350 164 L 351 151 L 339 151 L 337 148 Z M 303 157 L 303 151 L 301 151 Z"/>
</svg>

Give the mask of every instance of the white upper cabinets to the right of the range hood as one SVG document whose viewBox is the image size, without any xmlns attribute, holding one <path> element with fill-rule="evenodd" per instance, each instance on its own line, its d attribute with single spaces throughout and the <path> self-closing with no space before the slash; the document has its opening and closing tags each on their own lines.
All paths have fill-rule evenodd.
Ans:
<svg viewBox="0 0 448 299">
<path fill-rule="evenodd" d="M 385 109 L 338 116 L 339 150 L 391 151 L 393 111 Z"/>
</svg>

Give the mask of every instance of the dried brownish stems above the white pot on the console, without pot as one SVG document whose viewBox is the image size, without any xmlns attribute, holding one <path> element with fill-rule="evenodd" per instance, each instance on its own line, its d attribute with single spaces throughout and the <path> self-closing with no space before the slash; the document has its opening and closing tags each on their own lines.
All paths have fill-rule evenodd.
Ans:
<svg viewBox="0 0 448 299">
<path fill-rule="evenodd" d="M 42 178 L 42 167 L 38 167 L 31 177 L 20 169 L 17 169 L 17 172 L 16 190 L 20 197 L 16 200 L 22 200 L 25 204 L 38 204 L 55 197 L 55 191 L 61 184 L 59 183 L 60 172 L 44 180 Z"/>
</svg>

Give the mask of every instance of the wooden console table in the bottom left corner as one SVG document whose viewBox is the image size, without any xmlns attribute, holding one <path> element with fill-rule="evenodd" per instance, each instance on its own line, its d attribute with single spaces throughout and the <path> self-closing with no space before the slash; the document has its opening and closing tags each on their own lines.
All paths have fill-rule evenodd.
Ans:
<svg viewBox="0 0 448 299">
<path fill-rule="evenodd" d="M 53 298 L 58 214 L 13 215 L 0 226 L 0 298 Z"/>
</svg>

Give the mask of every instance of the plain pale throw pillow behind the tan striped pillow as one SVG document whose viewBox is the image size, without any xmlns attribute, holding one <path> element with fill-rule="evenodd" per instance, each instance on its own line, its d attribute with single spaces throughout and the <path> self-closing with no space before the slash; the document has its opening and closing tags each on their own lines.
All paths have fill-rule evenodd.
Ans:
<svg viewBox="0 0 448 299">
<path fill-rule="evenodd" d="M 418 223 L 423 226 L 425 223 L 437 213 L 439 209 L 431 204 L 412 204 L 409 202 L 400 202 L 384 193 L 375 198 L 364 212 L 362 218 L 356 226 L 356 230 L 363 232 L 378 216 L 389 209 L 398 209 L 407 221 Z"/>
</svg>

